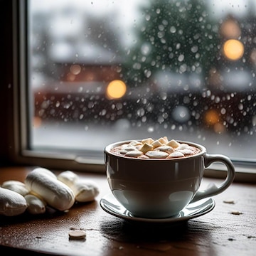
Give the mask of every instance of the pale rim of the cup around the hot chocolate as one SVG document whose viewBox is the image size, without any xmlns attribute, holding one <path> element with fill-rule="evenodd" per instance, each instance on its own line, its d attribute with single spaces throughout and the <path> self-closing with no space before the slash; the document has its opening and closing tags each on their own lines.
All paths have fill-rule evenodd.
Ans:
<svg viewBox="0 0 256 256">
<path fill-rule="evenodd" d="M 180 139 L 175 139 L 175 140 L 176 140 L 176 142 L 181 143 L 181 144 L 184 143 L 184 144 L 188 144 L 189 146 L 196 146 L 201 151 L 198 152 L 197 154 L 193 154 L 191 156 L 175 157 L 175 158 L 171 158 L 171 159 L 156 159 L 156 158 L 142 159 L 142 158 L 137 158 L 137 157 L 122 156 L 122 154 L 115 154 L 110 151 L 111 149 L 113 149 L 116 146 L 121 146 L 122 144 L 128 144 L 129 142 L 133 142 L 133 141 L 142 142 L 142 139 L 127 139 L 124 141 L 119 141 L 119 142 L 114 142 L 114 143 L 108 144 L 107 146 L 105 146 L 104 152 L 105 152 L 105 154 L 109 154 L 111 156 L 114 156 L 114 157 L 117 157 L 120 159 L 127 159 L 129 161 L 131 161 L 131 160 L 133 160 L 133 161 L 142 161 L 142 160 L 143 161 L 170 161 L 170 160 L 184 161 L 186 159 L 196 158 L 198 156 L 202 156 L 203 154 L 206 154 L 206 147 L 201 144 L 197 144 L 195 142 L 183 141 Z"/>
</svg>

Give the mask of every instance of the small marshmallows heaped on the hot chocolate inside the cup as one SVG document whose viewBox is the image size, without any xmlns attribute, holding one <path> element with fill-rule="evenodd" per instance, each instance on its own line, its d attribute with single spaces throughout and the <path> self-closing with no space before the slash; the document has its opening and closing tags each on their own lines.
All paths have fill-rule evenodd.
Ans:
<svg viewBox="0 0 256 256">
<path fill-rule="evenodd" d="M 186 143 L 176 142 L 175 139 L 161 137 L 159 139 L 142 139 L 142 142 L 134 140 L 129 144 L 122 144 L 112 149 L 113 153 L 122 154 L 128 157 L 142 159 L 173 159 L 191 156 L 200 150 Z"/>
</svg>

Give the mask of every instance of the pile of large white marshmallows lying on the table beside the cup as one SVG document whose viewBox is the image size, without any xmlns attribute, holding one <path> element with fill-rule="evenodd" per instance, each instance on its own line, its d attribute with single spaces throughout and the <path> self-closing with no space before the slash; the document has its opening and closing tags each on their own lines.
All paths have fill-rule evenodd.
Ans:
<svg viewBox="0 0 256 256">
<path fill-rule="evenodd" d="M 94 181 L 80 178 L 73 171 L 58 176 L 45 168 L 33 169 L 21 181 L 4 181 L 0 187 L 0 215 L 14 216 L 27 211 L 46 213 L 46 206 L 65 211 L 74 203 L 94 201 L 100 193 Z"/>
</svg>

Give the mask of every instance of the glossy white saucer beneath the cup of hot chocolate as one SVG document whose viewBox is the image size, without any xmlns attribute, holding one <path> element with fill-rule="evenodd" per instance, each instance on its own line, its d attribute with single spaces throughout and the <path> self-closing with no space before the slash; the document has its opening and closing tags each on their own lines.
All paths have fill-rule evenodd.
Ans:
<svg viewBox="0 0 256 256">
<path fill-rule="evenodd" d="M 200 201 L 190 203 L 183 208 L 181 212 L 175 217 L 170 218 L 139 218 L 132 215 L 124 206 L 122 206 L 112 193 L 103 196 L 100 199 L 100 206 L 103 210 L 118 218 L 129 221 L 139 221 L 144 223 L 177 223 L 181 221 L 190 220 L 192 218 L 199 217 L 206 213 L 209 213 L 215 207 L 215 201 L 213 198 L 205 198 Z"/>
</svg>

